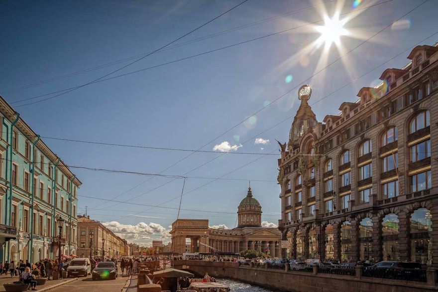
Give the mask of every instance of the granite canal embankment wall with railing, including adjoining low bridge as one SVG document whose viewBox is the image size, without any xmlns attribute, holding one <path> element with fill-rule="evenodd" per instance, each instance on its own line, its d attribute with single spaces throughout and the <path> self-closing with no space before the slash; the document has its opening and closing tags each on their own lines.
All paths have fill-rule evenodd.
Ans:
<svg viewBox="0 0 438 292">
<path fill-rule="evenodd" d="M 391 274 L 383 269 L 366 270 L 362 267 L 327 269 L 314 266 L 291 271 L 289 265 L 281 264 L 240 265 L 234 262 L 194 260 L 174 261 L 174 268 L 190 271 L 197 276 L 208 273 L 216 278 L 233 279 L 269 289 L 293 292 L 438 291 L 437 271 L 434 269 L 410 271 L 406 269 L 403 274 L 398 272 L 400 270 L 397 271 L 398 274 Z"/>
</svg>

